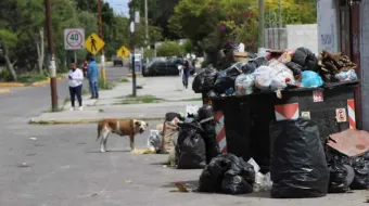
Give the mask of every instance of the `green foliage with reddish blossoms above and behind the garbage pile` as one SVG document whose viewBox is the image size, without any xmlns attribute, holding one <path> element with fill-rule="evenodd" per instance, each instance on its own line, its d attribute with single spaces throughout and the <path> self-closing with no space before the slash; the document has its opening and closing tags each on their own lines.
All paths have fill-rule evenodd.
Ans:
<svg viewBox="0 0 369 206">
<path fill-rule="evenodd" d="M 180 1 L 169 20 L 169 28 L 193 42 L 201 51 L 218 51 L 229 41 L 242 41 L 255 50 L 258 10 L 255 0 L 186 0 Z M 278 1 L 266 0 L 266 23 L 279 12 Z M 270 13 L 269 13 L 270 11 Z M 278 16 L 278 15 L 277 15 Z M 316 23 L 315 0 L 283 0 L 284 24 Z"/>
</svg>

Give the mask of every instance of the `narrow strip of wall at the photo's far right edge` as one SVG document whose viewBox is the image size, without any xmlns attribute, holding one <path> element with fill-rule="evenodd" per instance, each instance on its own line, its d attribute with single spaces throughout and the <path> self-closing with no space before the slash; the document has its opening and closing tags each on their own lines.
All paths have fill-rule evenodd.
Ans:
<svg viewBox="0 0 369 206">
<path fill-rule="evenodd" d="M 369 1 L 360 4 L 360 28 L 362 129 L 369 130 Z"/>
</svg>

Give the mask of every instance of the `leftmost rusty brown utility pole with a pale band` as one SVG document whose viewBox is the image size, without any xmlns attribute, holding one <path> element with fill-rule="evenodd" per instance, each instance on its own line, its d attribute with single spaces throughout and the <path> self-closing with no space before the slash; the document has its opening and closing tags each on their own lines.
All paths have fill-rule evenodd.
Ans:
<svg viewBox="0 0 369 206">
<path fill-rule="evenodd" d="M 56 64 L 54 57 L 54 46 L 52 36 L 51 9 L 50 0 L 44 0 L 46 23 L 48 31 L 48 52 L 49 52 L 49 73 L 50 73 L 50 89 L 51 89 L 51 111 L 58 112 L 58 90 L 56 90 Z"/>
</svg>

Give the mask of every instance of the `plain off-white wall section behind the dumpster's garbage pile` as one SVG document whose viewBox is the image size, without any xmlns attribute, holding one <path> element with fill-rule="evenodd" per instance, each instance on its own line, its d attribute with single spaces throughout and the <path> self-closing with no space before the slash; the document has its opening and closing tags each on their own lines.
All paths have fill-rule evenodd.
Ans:
<svg viewBox="0 0 369 206">
<path fill-rule="evenodd" d="M 288 49 L 304 47 L 318 55 L 319 50 L 317 25 L 287 25 L 287 44 Z"/>
</svg>

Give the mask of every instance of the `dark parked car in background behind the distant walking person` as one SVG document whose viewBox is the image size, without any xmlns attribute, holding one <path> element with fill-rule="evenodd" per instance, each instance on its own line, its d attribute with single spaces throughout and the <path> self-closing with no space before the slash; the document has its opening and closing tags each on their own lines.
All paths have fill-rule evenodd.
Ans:
<svg viewBox="0 0 369 206">
<path fill-rule="evenodd" d="M 142 67 L 142 75 L 144 77 L 148 76 L 160 76 L 160 75 L 179 75 L 178 65 L 182 65 L 183 60 L 180 57 L 171 57 L 167 60 L 154 60 L 149 62 Z M 190 74 L 193 75 L 195 72 L 194 66 L 190 70 Z"/>
</svg>

